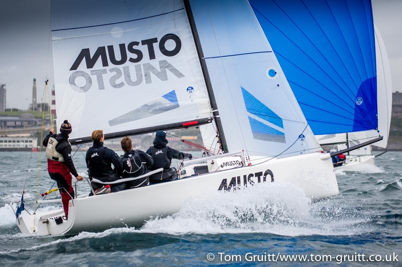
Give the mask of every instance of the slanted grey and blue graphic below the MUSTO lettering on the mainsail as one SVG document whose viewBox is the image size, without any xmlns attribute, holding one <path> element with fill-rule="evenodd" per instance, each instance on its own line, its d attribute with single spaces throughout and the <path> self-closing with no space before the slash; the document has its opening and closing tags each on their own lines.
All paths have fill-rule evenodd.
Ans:
<svg viewBox="0 0 402 267">
<path fill-rule="evenodd" d="M 133 109 L 132 111 L 110 120 L 109 125 L 115 126 L 126 122 L 148 118 L 150 116 L 158 115 L 178 107 L 180 107 L 180 105 L 177 101 L 176 92 L 173 90 L 159 98 L 151 100 L 141 107 Z"/>
</svg>

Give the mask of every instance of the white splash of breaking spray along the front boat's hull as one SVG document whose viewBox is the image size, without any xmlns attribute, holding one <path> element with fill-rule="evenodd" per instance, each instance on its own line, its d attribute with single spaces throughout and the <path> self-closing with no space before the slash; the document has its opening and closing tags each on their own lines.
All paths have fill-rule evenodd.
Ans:
<svg viewBox="0 0 402 267">
<path fill-rule="evenodd" d="M 252 190 L 252 191 L 251 191 Z M 349 235 L 368 231 L 366 220 L 339 203 L 313 203 L 288 184 L 258 184 L 237 192 L 214 192 L 188 200 L 179 212 L 154 218 L 141 232 L 209 234 L 264 232 L 277 235 Z"/>
</svg>

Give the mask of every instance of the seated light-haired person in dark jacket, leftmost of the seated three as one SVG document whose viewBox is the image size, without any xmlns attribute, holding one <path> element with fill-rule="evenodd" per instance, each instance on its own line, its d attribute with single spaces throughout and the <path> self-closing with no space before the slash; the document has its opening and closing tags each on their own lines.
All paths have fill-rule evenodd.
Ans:
<svg viewBox="0 0 402 267">
<path fill-rule="evenodd" d="M 92 132 L 93 145 L 86 151 L 85 161 L 88 167 L 89 178 L 96 178 L 103 182 L 113 182 L 120 179 L 118 172 L 123 165 L 118 155 L 112 149 L 104 147 L 105 135 L 103 130 Z M 112 168 L 112 164 L 115 169 Z M 103 184 L 91 182 L 93 190 L 101 188 Z M 112 192 L 123 190 L 124 184 L 111 184 Z M 92 192 L 89 194 L 91 195 Z"/>
</svg>

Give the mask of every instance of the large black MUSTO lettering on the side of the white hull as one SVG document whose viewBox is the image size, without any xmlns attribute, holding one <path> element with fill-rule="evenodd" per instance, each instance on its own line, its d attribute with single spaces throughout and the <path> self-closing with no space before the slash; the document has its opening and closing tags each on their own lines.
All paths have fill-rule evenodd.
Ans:
<svg viewBox="0 0 402 267">
<path fill-rule="evenodd" d="M 249 174 L 244 174 L 243 176 L 235 176 L 232 177 L 228 183 L 228 179 L 225 178 L 222 180 L 221 184 L 219 185 L 218 191 L 224 190 L 224 191 L 230 191 L 230 190 L 236 190 L 239 189 L 242 186 L 247 185 L 254 185 L 255 183 L 261 183 L 261 182 L 266 182 L 267 177 L 269 180 L 269 177 L 271 178 L 270 181 L 273 182 L 273 173 L 270 169 L 265 170 L 264 172 L 255 172 L 255 173 L 249 173 Z"/>
</svg>

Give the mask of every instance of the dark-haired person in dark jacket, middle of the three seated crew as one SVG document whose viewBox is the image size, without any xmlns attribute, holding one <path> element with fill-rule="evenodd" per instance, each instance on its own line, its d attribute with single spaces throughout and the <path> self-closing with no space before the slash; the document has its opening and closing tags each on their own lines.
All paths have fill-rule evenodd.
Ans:
<svg viewBox="0 0 402 267">
<path fill-rule="evenodd" d="M 154 164 L 150 155 L 142 150 L 134 150 L 130 137 L 124 137 L 121 141 L 122 149 L 125 152 L 120 157 L 123 163 L 123 178 L 138 177 L 148 172 L 149 167 Z M 126 189 L 141 187 L 149 184 L 149 176 L 126 182 Z"/>
</svg>

